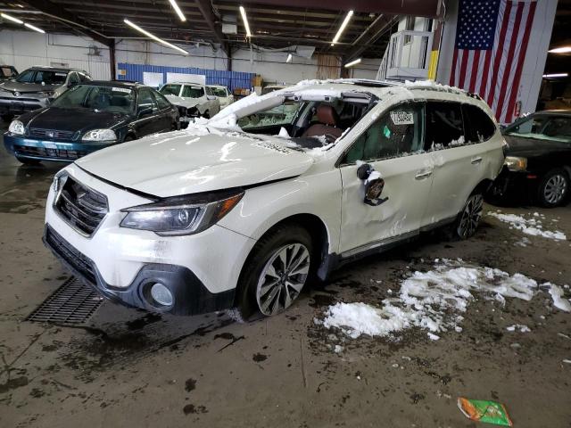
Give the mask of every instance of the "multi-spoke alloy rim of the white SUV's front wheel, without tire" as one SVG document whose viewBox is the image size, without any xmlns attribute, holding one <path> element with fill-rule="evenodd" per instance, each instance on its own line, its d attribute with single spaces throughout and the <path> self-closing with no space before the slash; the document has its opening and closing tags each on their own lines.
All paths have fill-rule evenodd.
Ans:
<svg viewBox="0 0 571 428">
<path fill-rule="evenodd" d="M 261 313 L 275 315 L 288 308 L 302 291 L 309 272 L 310 251 L 302 243 L 290 243 L 274 251 L 256 287 Z"/>
</svg>

